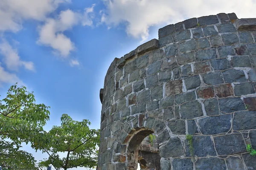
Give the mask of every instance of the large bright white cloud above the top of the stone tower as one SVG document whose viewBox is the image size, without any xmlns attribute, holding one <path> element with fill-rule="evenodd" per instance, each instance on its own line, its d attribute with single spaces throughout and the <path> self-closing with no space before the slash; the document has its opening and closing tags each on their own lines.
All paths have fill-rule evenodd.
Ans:
<svg viewBox="0 0 256 170">
<path fill-rule="evenodd" d="M 104 0 L 102 22 L 108 26 L 126 24 L 126 32 L 143 40 L 148 28 L 157 24 L 177 23 L 192 17 L 235 12 L 239 18 L 253 16 L 255 0 Z M 239 4 L 239 5 L 238 5 Z"/>
</svg>

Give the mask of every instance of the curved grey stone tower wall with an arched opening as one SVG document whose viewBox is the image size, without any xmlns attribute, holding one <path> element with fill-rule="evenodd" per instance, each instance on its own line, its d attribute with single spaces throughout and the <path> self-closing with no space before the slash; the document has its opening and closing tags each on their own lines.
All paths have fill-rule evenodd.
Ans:
<svg viewBox="0 0 256 170">
<path fill-rule="evenodd" d="M 246 151 L 256 149 L 255 41 L 256 19 L 221 13 L 160 28 L 159 40 L 114 59 L 98 169 L 136 170 L 151 133 L 162 170 L 256 169 Z"/>
</svg>

